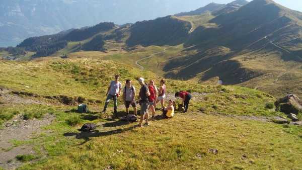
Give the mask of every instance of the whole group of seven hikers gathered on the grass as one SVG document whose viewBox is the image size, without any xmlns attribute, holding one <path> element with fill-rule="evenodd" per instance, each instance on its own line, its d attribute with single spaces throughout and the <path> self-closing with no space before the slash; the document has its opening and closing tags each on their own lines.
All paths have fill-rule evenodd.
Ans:
<svg viewBox="0 0 302 170">
<path fill-rule="evenodd" d="M 115 80 L 110 82 L 110 85 L 107 90 L 107 98 L 104 105 L 103 112 L 106 112 L 108 104 L 110 100 L 113 99 L 114 102 L 114 114 L 117 113 L 117 99 L 121 96 L 123 102 L 126 107 L 126 113 L 129 114 L 129 107 L 130 105 L 133 107 L 134 115 L 137 115 L 137 104 L 140 105 L 140 121 L 138 126 L 142 127 L 142 122 L 145 120 L 145 126 L 148 126 L 149 120 L 149 111 L 152 112 L 151 119 L 155 118 L 156 113 L 156 105 L 160 102 L 161 103 L 161 110 L 163 112 L 163 116 L 165 118 L 172 118 L 174 116 L 175 111 L 175 102 L 170 99 L 169 104 L 165 107 L 165 99 L 166 99 L 166 91 L 167 87 L 165 84 L 165 80 L 160 80 L 160 88 L 158 89 L 155 85 L 154 80 L 150 80 L 149 84 L 145 83 L 144 78 L 139 78 L 138 82 L 140 84 L 139 90 L 139 100 L 135 101 L 136 98 L 136 89 L 132 84 L 130 79 L 126 80 L 126 86 L 122 89 L 122 83 L 119 81 L 120 76 L 115 75 Z M 180 97 L 183 101 L 184 112 L 187 112 L 189 107 L 190 99 L 192 98 L 191 94 L 188 92 L 177 92 L 175 93 L 175 98 Z"/>
</svg>

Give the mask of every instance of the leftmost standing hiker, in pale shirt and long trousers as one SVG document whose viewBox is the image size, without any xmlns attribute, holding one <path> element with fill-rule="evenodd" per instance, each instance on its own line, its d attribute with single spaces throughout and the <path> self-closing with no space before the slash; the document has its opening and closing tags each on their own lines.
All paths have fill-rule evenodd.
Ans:
<svg viewBox="0 0 302 170">
<path fill-rule="evenodd" d="M 115 75 L 114 78 L 115 78 L 115 80 L 110 82 L 108 90 L 107 90 L 107 94 L 106 94 L 107 98 L 106 98 L 106 101 L 105 101 L 103 112 L 106 112 L 110 100 L 113 99 L 114 114 L 116 114 L 117 113 L 117 98 L 121 94 L 122 84 L 118 81 L 119 80 L 119 75 Z"/>
</svg>

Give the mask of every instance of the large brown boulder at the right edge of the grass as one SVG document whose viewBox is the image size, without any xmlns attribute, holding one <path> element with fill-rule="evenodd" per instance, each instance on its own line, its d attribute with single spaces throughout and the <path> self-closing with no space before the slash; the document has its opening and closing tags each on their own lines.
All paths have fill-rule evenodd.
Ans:
<svg viewBox="0 0 302 170">
<path fill-rule="evenodd" d="M 297 115 L 302 112 L 302 101 L 294 94 L 287 95 L 275 102 L 275 106 L 281 112 L 289 115 L 293 113 Z"/>
</svg>

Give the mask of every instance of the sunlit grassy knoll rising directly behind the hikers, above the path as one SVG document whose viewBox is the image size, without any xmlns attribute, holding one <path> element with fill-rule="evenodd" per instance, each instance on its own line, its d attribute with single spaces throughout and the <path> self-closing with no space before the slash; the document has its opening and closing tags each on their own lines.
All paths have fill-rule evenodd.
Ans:
<svg viewBox="0 0 302 170">
<path fill-rule="evenodd" d="M 41 97 L 81 97 L 86 102 L 99 100 L 101 104 L 105 100 L 104 94 L 114 74 L 120 74 L 123 83 L 127 78 L 134 80 L 136 88 L 139 85 L 135 79 L 140 76 L 147 80 L 155 79 L 156 83 L 159 83 L 160 79 L 152 72 L 141 72 L 137 68 L 96 59 L 5 61 L 0 63 L 0 66 L 0 75 L 3 77 L 0 84 L 4 88 Z M 172 96 L 176 91 L 182 90 L 197 93 L 192 108 L 205 113 L 275 115 L 274 111 L 265 108 L 266 103 L 274 102 L 275 98 L 256 90 L 171 79 L 167 80 L 167 87 Z"/>
</svg>

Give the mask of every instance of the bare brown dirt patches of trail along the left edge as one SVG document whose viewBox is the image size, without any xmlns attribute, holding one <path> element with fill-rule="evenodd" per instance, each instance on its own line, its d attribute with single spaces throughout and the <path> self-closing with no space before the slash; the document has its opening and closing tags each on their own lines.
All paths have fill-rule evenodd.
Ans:
<svg viewBox="0 0 302 170">
<path fill-rule="evenodd" d="M 45 104 L 35 98 L 21 97 L 12 94 L 11 90 L 0 89 L 0 106 L 14 107 L 16 105 Z M 45 104 L 46 105 L 46 104 Z M 34 134 L 39 134 L 41 127 L 50 124 L 55 119 L 54 115 L 45 115 L 43 119 L 23 120 L 22 115 L 15 116 L 0 129 L 0 167 L 15 169 L 23 163 L 16 159 L 17 155 L 34 154 L 30 145 L 15 147 L 13 140 L 25 141 Z"/>
</svg>

